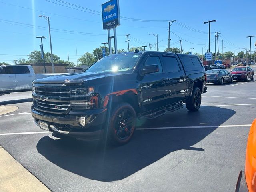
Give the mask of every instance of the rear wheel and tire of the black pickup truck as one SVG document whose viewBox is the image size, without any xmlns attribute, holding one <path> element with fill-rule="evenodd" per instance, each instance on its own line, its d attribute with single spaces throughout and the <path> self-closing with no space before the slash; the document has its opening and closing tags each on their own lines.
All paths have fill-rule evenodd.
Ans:
<svg viewBox="0 0 256 192">
<path fill-rule="evenodd" d="M 198 111 L 201 106 L 201 91 L 198 87 L 194 88 L 190 100 L 186 102 L 186 108 L 189 111 Z"/>
</svg>

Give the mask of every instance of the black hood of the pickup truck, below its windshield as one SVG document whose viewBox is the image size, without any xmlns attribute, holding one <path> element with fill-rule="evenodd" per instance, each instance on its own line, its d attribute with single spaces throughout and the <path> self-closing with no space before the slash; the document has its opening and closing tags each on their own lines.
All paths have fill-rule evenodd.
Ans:
<svg viewBox="0 0 256 192">
<path fill-rule="evenodd" d="M 93 80 L 97 78 L 104 78 L 106 76 L 115 76 L 121 73 L 117 72 L 105 72 L 105 73 L 73 73 L 66 75 L 56 75 L 50 76 L 43 79 L 34 80 L 33 83 L 64 83 L 64 84 L 82 84 L 88 80 Z"/>
</svg>

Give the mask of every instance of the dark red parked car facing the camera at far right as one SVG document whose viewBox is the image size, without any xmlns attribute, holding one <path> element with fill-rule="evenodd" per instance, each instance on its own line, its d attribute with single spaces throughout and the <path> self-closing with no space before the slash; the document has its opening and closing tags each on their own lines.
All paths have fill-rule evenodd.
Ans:
<svg viewBox="0 0 256 192">
<path fill-rule="evenodd" d="M 231 74 L 234 76 L 234 80 L 248 81 L 249 78 L 254 80 L 254 70 L 247 66 L 235 67 L 231 70 Z"/>
</svg>

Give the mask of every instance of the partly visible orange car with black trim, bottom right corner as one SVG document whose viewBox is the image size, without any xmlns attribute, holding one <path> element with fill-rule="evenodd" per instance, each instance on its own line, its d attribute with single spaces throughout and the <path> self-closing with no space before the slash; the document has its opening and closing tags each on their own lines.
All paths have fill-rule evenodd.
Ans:
<svg viewBox="0 0 256 192">
<path fill-rule="evenodd" d="M 240 171 L 236 192 L 256 192 L 256 119 L 252 122 L 246 147 L 245 171 Z"/>
</svg>

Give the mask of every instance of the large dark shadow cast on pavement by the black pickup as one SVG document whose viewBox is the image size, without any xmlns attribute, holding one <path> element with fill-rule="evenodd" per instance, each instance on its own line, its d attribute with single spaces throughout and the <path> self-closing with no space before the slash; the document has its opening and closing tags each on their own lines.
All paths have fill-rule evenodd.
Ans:
<svg viewBox="0 0 256 192">
<path fill-rule="evenodd" d="M 198 112 L 188 112 L 183 108 L 154 120 L 140 120 L 137 128 L 218 126 L 235 113 L 231 109 L 210 106 L 202 106 Z M 215 129 L 203 127 L 136 130 L 132 140 L 119 147 L 105 147 L 100 142 L 53 139 L 44 136 L 36 147 L 47 160 L 64 170 L 92 180 L 115 182 L 177 150 L 196 150 L 204 153 L 203 148 L 193 145 Z M 186 158 L 180 160 L 185 162 Z"/>
</svg>

